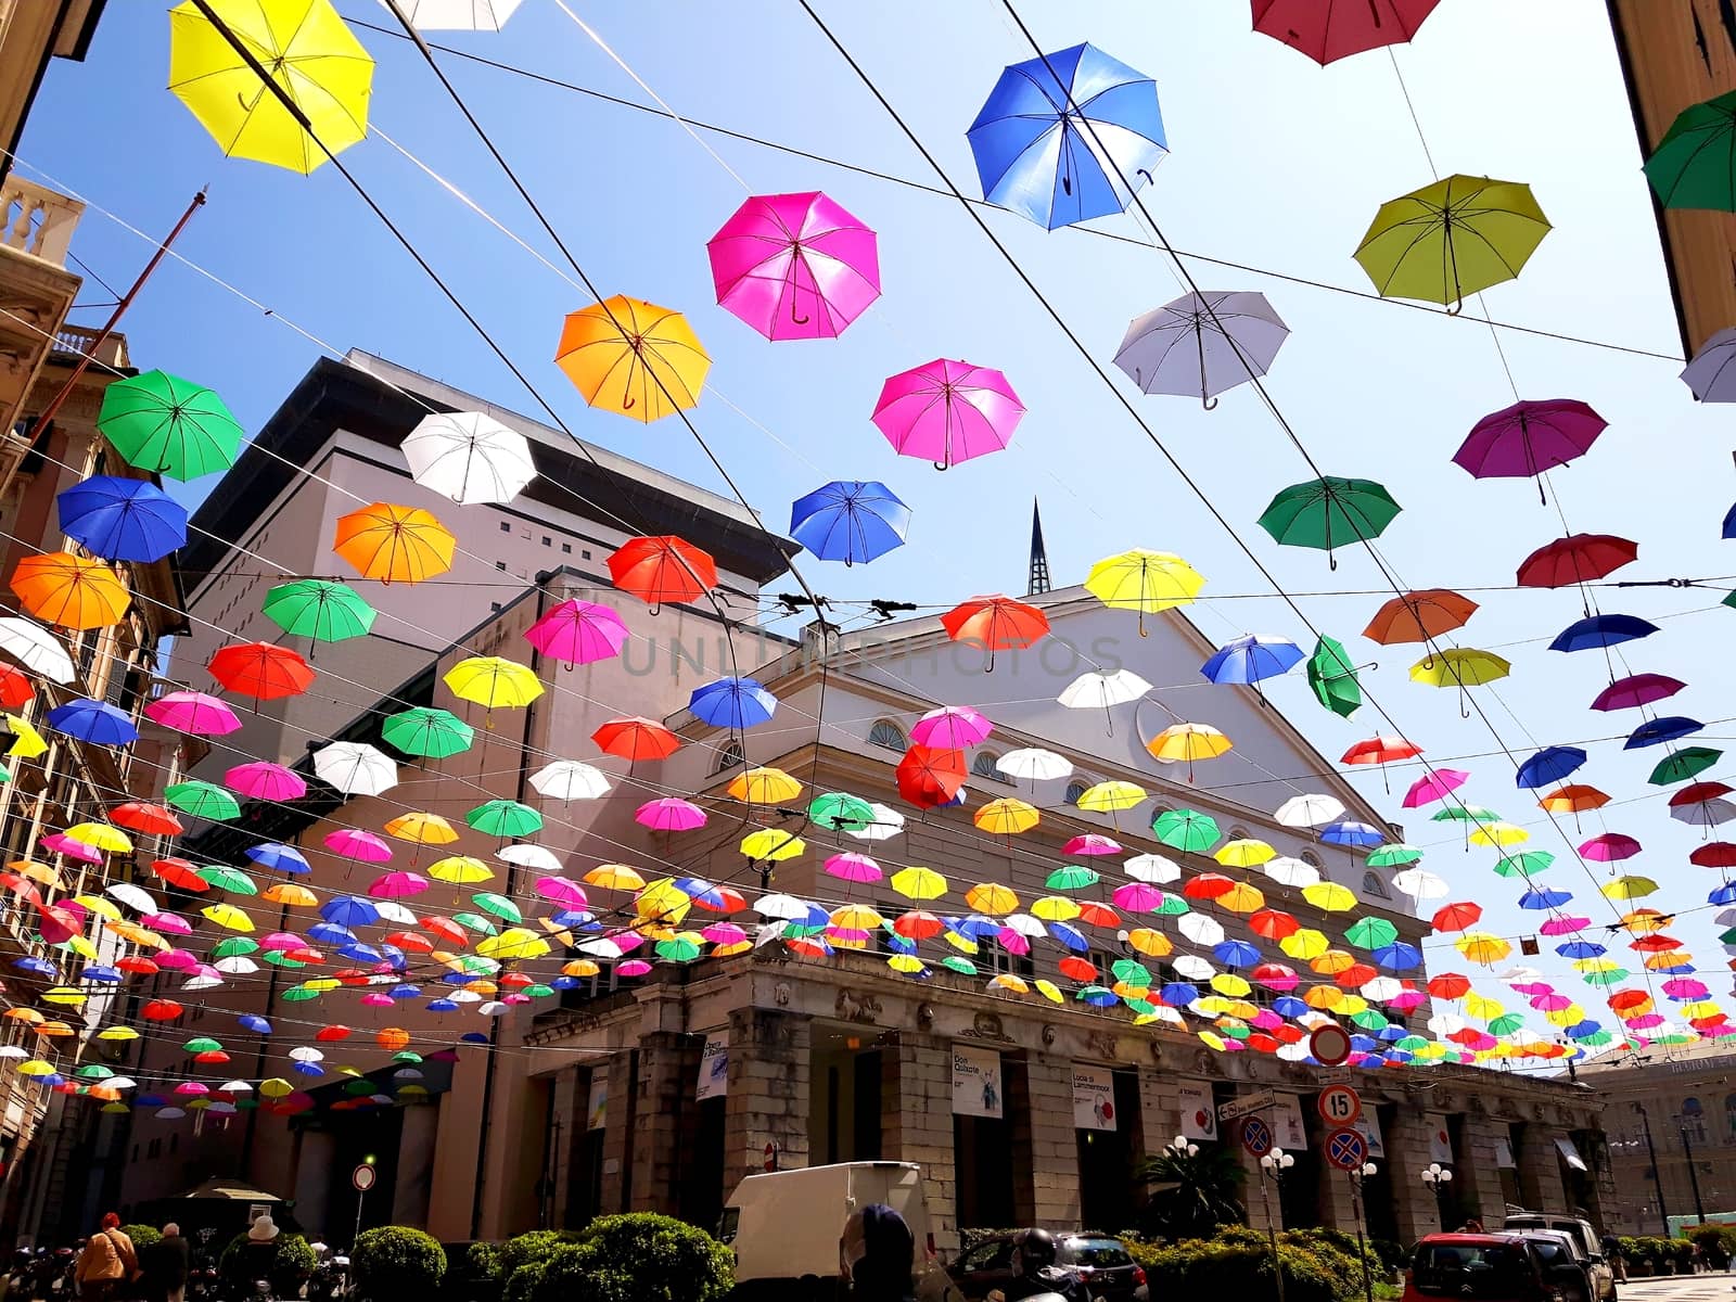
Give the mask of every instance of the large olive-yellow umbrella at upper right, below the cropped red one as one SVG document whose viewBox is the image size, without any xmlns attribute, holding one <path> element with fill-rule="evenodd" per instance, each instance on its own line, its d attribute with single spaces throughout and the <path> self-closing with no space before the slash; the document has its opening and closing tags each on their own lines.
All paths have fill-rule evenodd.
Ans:
<svg viewBox="0 0 1736 1302">
<path fill-rule="evenodd" d="M 1356 260 L 1382 299 L 1457 311 L 1465 295 L 1517 276 L 1545 234 L 1529 186 L 1451 175 L 1382 203 Z"/>
</svg>

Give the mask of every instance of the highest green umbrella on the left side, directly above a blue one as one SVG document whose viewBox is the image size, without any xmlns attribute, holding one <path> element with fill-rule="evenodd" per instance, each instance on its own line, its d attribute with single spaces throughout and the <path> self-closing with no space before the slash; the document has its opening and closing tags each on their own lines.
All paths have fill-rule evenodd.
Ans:
<svg viewBox="0 0 1736 1302">
<path fill-rule="evenodd" d="M 170 479 L 227 470 L 245 437 L 217 394 L 168 372 L 146 372 L 104 389 L 97 429 L 132 465 Z"/>
</svg>

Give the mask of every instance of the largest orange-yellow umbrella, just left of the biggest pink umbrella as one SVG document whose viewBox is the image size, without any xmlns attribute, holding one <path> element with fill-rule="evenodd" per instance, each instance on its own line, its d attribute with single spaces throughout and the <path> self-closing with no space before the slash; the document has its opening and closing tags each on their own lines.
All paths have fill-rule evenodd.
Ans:
<svg viewBox="0 0 1736 1302">
<path fill-rule="evenodd" d="M 646 424 L 698 406 L 712 368 L 687 318 L 625 293 L 571 312 L 554 361 L 587 403 Z"/>
</svg>

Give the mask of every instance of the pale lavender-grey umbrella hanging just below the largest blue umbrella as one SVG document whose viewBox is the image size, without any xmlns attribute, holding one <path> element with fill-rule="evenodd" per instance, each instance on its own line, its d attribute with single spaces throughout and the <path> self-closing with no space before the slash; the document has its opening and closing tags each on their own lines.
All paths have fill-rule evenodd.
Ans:
<svg viewBox="0 0 1736 1302">
<path fill-rule="evenodd" d="M 1255 380 L 1290 337 L 1264 293 L 1184 293 L 1134 318 L 1115 365 L 1147 394 L 1200 398 Z"/>
</svg>

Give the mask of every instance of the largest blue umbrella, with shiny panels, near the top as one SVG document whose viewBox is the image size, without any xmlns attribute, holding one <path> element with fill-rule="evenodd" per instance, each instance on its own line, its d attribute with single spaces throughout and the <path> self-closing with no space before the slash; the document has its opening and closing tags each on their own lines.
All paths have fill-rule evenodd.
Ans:
<svg viewBox="0 0 1736 1302">
<path fill-rule="evenodd" d="M 1092 45 L 1003 69 L 967 137 L 983 198 L 1050 231 L 1125 210 L 1168 153 L 1158 83 Z"/>
</svg>

